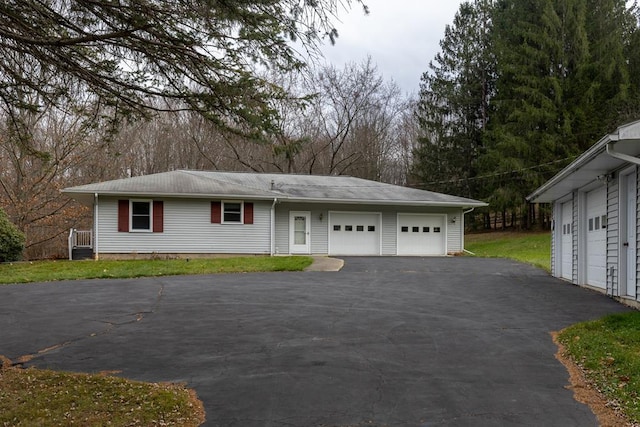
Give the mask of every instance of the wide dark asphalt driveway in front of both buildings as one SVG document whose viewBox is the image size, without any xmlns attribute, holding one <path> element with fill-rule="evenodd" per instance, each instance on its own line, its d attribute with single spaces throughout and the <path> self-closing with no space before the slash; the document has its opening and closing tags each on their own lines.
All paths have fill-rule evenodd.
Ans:
<svg viewBox="0 0 640 427">
<path fill-rule="evenodd" d="M 625 308 L 523 264 L 0 286 L 0 354 L 186 382 L 210 426 L 589 426 L 549 333 Z"/>
</svg>

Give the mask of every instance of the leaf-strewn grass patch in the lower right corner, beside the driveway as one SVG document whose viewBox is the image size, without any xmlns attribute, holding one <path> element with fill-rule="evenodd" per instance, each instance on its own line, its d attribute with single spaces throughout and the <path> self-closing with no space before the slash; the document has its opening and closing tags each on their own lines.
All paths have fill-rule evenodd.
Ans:
<svg viewBox="0 0 640 427">
<path fill-rule="evenodd" d="M 640 312 L 570 326 L 558 335 L 571 359 L 609 402 L 640 424 Z"/>
</svg>

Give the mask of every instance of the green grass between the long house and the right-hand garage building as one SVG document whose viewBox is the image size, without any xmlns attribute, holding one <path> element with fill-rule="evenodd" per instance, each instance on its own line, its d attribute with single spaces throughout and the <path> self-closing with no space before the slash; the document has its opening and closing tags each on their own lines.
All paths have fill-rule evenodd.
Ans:
<svg viewBox="0 0 640 427">
<path fill-rule="evenodd" d="M 511 258 L 551 271 L 550 231 L 467 234 L 465 249 L 475 256 Z"/>
</svg>

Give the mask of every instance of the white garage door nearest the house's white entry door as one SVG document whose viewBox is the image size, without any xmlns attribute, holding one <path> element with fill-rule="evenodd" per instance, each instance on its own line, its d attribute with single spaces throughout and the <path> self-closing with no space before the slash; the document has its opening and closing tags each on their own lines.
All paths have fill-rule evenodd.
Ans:
<svg viewBox="0 0 640 427">
<path fill-rule="evenodd" d="M 380 214 L 329 212 L 329 255 L 380 255 Z"/>
</svg>

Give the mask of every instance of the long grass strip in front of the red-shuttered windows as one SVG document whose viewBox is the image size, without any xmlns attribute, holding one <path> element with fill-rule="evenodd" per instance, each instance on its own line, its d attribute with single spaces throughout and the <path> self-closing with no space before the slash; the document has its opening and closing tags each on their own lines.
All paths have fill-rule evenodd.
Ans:
<svg viewBox="0 0 640 427">
<path fill-rule="evenodd" d="M 183 274 L 301 271 L 311 257 L 234 257 L 128 261 L 34 261 L 0 264 L 0 284 Z"/>
</svg>

